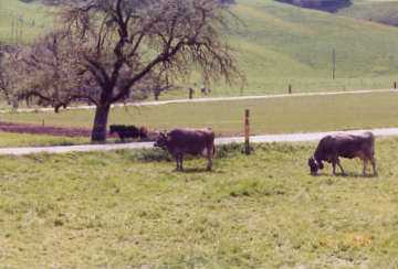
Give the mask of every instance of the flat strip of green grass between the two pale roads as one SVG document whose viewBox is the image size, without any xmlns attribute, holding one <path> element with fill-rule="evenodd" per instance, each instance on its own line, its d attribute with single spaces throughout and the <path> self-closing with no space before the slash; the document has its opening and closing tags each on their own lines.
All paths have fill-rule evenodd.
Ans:
<svg viewBox="0 0 398 269">
<path fill-rule="evenodd" d="M 287 97 L 256 100 L 170 104 L 115 108 L 109 125 L 146 126 L 150 130 L 211 127 L 219 136 L 243 133 L 244 109 L 251 133 L 291 133 L 397 127 L 398 93 Z M 91 127 L 93 110 L 2 114 L 0 121 Z"/>
</svg>

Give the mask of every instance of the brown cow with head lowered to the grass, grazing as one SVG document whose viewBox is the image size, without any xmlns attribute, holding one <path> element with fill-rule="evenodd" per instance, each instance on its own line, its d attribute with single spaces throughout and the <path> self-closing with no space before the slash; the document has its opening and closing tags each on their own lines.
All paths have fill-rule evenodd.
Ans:
<svg viewBox="0 0 398 269">
<path fill-rule="evenodd" d="M 342 174 L 344 174 L 338 157 L 348 159 L 360 158 L 364 161 L 364 175 L 366 175 L 367 162 L 370 161 L 374 175 L 377 175 L 375 161 L 375 137 L 371 132 L 364 132 L 359 136 L 337 133 L 326 136 L 321 139 L 314 157 L 308 159 L 311 174 L 316 175 L 318 169 L 324 168 L 322 161 L 332 163 L 333 175 L 336 174 L 336 164 L 342 170 Z"/>
</svg>

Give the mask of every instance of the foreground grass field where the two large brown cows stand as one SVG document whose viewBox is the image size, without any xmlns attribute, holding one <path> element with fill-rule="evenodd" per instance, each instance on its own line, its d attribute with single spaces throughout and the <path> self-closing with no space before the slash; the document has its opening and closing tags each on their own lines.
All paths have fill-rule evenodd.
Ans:
<svg viewBox="0 0 398 269">
<path fill-rule="evenodd" d="M 0 157 L 4 268 L 395 268 L 397 139 L 377 139 L 378 177 L 311 176 L 315 143 Z"/>
</svg>

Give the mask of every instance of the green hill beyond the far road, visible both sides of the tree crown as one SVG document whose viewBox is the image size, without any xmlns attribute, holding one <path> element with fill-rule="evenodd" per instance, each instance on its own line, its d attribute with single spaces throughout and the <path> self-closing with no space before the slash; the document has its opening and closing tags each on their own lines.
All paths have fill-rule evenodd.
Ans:
<svg viewBox="0 0 398 269">
<path fill-rule="evenodd" d="M 45 32 L 52 25 L 43 12 L 48 9 L 39 2 L 0 0 L 0 41 L 19 36 L 29 42 Z M 232 25 L 229 37 L 249 83 L 241 94 L 285 93 L 290 83 L 295 93 L 387 88 L 396 79 L 397 28 L 272 0 L 238 0 L 232 10 L 242 24 Z M 22 25 L 15 31 L 18 23 Z M 333 50 L 336 79 L 332 79 Z M 192 77 L 188 84 L 201 83 Z M 241 86 L 213 84 L 211 95 L 239 95 Z"/>
</svg>

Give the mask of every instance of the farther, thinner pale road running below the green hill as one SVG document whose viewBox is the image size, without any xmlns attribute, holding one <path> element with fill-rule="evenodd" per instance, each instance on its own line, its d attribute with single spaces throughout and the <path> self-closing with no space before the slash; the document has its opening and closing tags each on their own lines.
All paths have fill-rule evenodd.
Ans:
<svg viewBox="0 0 398 269">
<path fill-rule="evenodd" d="M 266 98 L 286 98 L 286 97 L 300 97 L 300 96 L 327 96 L 327 95 L 348 95 L 348 94 L 371 94 L 371 93 L 391 93 L 397 89 L 358 89 L 358 90 L 344 90 L 344 92 L 324 92 L 324 93 L 300 93 L 300 94 L 280 94 L 280 95 L 255 95 L 255 96 L 238 96 L 238 97 L 211 97 L 211 98 L 195 98 L 195 99 L 178 99 L 178 100 L 163 100 L 163 101 L 140 101 L 140 103 L 127 103 L 116 104 L 113 107 L 123 106 L 159 106 L 168 104 L 180 103 L 205 103 L 205 101 L 221 101 L 221 100 L 250 100 L 250 99 L 266 99 Z M 95 106 L 78 106 L 67 107 L 66 109 L 94 109 Z M 33 112 L 33 111 L 53 111 L 54 108 L 20 108 L 12 110 L 13 112 Z M 11 110 L 0 110 L 0 114 L 7 114 Z"/>
</svg>

